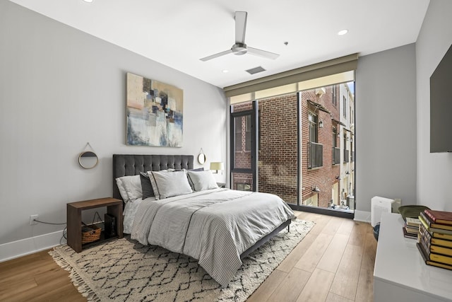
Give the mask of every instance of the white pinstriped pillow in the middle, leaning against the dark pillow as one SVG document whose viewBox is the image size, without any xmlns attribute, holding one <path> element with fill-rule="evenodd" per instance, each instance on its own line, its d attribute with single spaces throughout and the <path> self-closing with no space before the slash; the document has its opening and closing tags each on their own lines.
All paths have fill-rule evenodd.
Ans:
<svg viewBox="0 0 452 302">
<path fill-rule="evenodd" d="M 164 199 L 177 195 L 189 194 L 191 190 L 185 171 L 162 172 L 148 171 L 155 199 Z"/>
</svg>

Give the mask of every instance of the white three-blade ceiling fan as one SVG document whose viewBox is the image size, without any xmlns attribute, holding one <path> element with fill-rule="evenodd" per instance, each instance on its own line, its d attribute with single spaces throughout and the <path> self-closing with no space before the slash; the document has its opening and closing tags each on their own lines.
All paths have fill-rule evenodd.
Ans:
<svg viewBox="0 0 452 302">
<path fill-rule="evenodd" d="M 265 57 L 267 59 L 276 59 L 279 54 L 273 52 L 267 52 L 266 50 L 258 50 L 257 48 L 247 47 L 245 44 L 245 32 L 246 32 L 246 16 L 248 13 L 246 11 L 236 11 L 235 12 L 235 44 L 232 45 L 230 50 L 224 52 L 218 52 L 218 54 L 212 54 L 208 57 L 203 57 L 200 59 L 206 62 L 210 59 L 215 59 L 225 54 L 237 54 L 238 56 L 242 54 L 254 54 L 255 56 Z"/>
</svg>

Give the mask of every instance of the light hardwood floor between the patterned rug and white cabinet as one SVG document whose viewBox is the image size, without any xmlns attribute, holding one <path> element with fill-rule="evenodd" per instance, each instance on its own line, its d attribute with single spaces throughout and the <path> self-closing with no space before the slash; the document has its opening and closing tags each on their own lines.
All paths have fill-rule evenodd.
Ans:
<svg viewBox="0 0 452 302">
<path fill-rule="evenodd" d="M 296 214 L 316 226 L 248 301 L 374 301 L 376 240 L 370 224 Z"/>
</svg>

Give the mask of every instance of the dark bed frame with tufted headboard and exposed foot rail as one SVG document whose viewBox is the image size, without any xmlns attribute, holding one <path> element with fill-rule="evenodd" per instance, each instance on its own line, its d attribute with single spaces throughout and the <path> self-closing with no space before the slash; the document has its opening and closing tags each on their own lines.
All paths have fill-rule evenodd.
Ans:
<svg viewBox="0 0 452 302">
<path fill-rule="evenodd" d="M 122 176 L 137 175 L 145 171 L 160 171 L 168 168 L 193 169 L 194 156 L 192 155 L 148 155 L 148 154 L 113 154 L 113 197 L 122 199 L 116 184 L 116 179 Z M 244 259 L 251 252 L 266 243 L 270 238 L 287 226 L 290 231 L 291 219 L 283 222 L 278 228 L 267 236 L 258 240 L 251 248 L 242 252 L 240 259 Z"/>
</svg>

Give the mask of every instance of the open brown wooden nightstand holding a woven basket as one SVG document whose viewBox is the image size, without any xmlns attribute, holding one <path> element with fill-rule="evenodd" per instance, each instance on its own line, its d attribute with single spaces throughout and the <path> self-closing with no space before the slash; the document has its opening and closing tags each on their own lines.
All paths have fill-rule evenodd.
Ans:
<svg viewBox="0 0 452 302">
<path fill-rule="evenodd" d="M 71 202 L 67 204 L 68 245 L 76 252 L 82 251 L 82 211 L 100 207 L 107 207 L 107 213 L 116 218 L 117 238 L 123 238 L 121 199 L 106 197 L 85 200 L 83 202 Z M 102 232 L 100 240 L 103 238 L 104 236 Z"/>
</svg>

